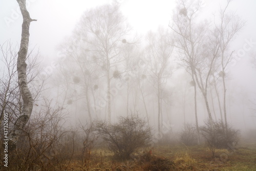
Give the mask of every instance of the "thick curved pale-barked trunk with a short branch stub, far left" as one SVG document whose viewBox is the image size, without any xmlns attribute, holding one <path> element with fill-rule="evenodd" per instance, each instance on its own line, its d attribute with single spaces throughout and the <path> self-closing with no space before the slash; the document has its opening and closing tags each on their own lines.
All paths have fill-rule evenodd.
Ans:
<svg viewBox="0 0 256 171">
<path fill-rule="evenodd" d="M 33 98 L 31 92 L 28 88 L 27 82 L 27 64 L 26 57 L 28 54 L 28 46 L 29 46 L 29 26 L 32 21 L 36 21 L 35 19 L 31 19 L 29 12 L 26 8 L 26 0 L 17 0 L 20 11 L 23 16 L 23 24 L 22 24 L 22 39 L 20 41 L 20 48 L 18 51 L 18 59 L 17 59 L 17 73 L 18 73 L 18 86 L 20 95 L 23 100 L 23 109 L 21 115 L 17 118 L 14 123 L 14 128 L 9 134 L 10 139 L 10 150 L 16 148 L 16 144 L 18 142 L 19 137 L 22 134 L 22 129 L 28 122 L 32 110 L 33 110 Z"/>
</svg>

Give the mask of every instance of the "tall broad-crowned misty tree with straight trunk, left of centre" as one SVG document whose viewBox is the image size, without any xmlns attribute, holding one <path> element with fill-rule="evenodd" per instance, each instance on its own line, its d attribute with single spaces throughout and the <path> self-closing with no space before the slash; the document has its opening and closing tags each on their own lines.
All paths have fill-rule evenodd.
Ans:
<svg viewBox="0 0 256 171">
<path fill-rule="evenodd" d="M 117 63 L 123 60 L 121 47 L 126 43 L 125 35 L 129 27 L 121 14 L 118 5 L 103 5 L 88 10 L 81 17 L 76 33 L 81 40 L 90 46 L 88 51 L 95 54 L 98 65 L 105 72 L 107 81 L 108 120 L 111 121 L 111 79 L 112 69 L 117 71 Z M 114 74 L 113 72 L 113 74 Z"/>
</svg>

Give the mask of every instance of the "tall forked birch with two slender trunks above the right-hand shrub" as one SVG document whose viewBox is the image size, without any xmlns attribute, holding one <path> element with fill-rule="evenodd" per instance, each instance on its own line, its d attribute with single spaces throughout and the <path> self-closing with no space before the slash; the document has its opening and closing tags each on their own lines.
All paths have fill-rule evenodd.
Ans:
<svg viewBox="0 0 256 171">
<path fill-rule="evenodd" d="M 201 1 L 178 1 L 177 8 L 174 11 L 173 24 L 169 24 L 170 29 L 176 35 L 172 44 L 177 48 L 181 65 L 188 71 L 193 80 L 198 137 L 200 134 L 196 86 L 203 95 L 209 123 L 212 123 L 213 119 L 207 97 L 208 81 L 220 51 L 218 32 L 210 27 L 207 20 L 200 22 L 198 18 L 201 6 Z"/>
</svg>

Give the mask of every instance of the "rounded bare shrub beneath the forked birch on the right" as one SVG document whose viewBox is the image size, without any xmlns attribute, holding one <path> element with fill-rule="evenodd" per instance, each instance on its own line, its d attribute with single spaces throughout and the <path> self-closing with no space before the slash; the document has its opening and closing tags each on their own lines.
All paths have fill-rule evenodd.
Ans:
<svg viewBox="0 0 256 171">
<path fill-rule="evenodd" d="M 212 152 L 212 157 L 215 157 L 217 148 L 230 148 L 237 145 L 239 140 L 239 130 L 233 129 L 222 121 L 211 122 L 208 120 L 204 126 L 200 127 L 201 135 L 207 142 L 207 145 Z"/>
</svg>

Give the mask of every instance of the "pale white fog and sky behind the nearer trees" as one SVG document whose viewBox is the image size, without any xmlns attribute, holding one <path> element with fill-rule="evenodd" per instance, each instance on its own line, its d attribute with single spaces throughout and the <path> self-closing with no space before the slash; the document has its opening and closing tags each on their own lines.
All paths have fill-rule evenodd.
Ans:
<svg viewBox="0 0 256 171">
<path fill-rule="evenodd" d="M 119 116 L 138 114 L 148 120 L 155 131 L 161 125 L 163 130 L 167 128 L 168 131 L 178 132 L 184 123 L 196 123 L 196 86 L 199 125 L 208 119 L 203 94 L 198 83 L 193 86 L 189 67 L 184 67 L 186 65 L 181 60 L 183 52 L 176 45 L 179 37 L 170 28 L 175 26 L 175 1 L 116 2 L 120 6 L 116 18 L 119 15 L 122 17 L 121 24 L 117 26 L 119 30 L 113 35 L 118 38 L 114 39 L 116 42 L 111 42 L 114 48 L 110 49 L 109 68 L 104 68 L 108 67 L 109 59 L 104 59 L 101 49 L 95 48 L 101 42 L 94 39 L 92 32 L 84 29 L 88 32 L 84 33 L 82 29 L 90 28 L 88 22 L 95 22 L 96 12 L 101 12 L 93 10 L 110 5 L 112 1 L 31 0 L 27 3 L 31 18 L 37 19 L 30 25 L 29 49 L 34 49 L 31 58 L 37 51 L 39 55 L 39 65 L 32 71 L 38 74 L 30 86 L 34 95 L 39 87 L 43 87 L 35 98 L 33 111 L 39 111 L 44 106 L 44 99 L 47 99 L 52 106 L 65 109 L 66 124 L 71 127 L 79 121 L 86 123 L 95 119 L 110 119 L 116 122 Z M 1 1 L 1 4 L 0 43 L 4 45 L 9 40 L 13 46 L 19 45 L 22 15 L 18 5 L 16 1 Z M 226 4 L 226 1 L 203 1 L 195 25 L 207 20 L 208 29 L 212 29 L 215 23 L 220 22 L 218 11 Z M 245 22 L 224 53 L 226 56 L 231 54 L 224 76 L 227 122 L 243 131 L 256 129 L 255 7 L 254 1 L 237 0 L 232 1 L 227 9 L 228 14 L 236 12 Z M 84 11 L 91 16 L 85 16 Z M 104 13 L 99 15 L 100 19 L 102 15 Z M 209 35 L 209 30 L 205 34 Z M 201 34 L 198 30 L 194 31 Z M 209 56 L 210 52 L 207 53 Z M 213 77 L 210 76 L 209 82 L 202 81 L 203 84 L 208 83 L 207 99 L 214 120 L 224 119 L 220 56 L 217 55 L 211 72 L 211 76 L 216 76 L 217 90 L 210 82 Z M 200 59 L 203 63 L 198 65 L 202 69 L 202 79 L 207 75 L 209 61 L 206 58 Z M 1 66 L 1 72 L 4 72 L 4 61 L 1 61 Z"/>
</svg>

